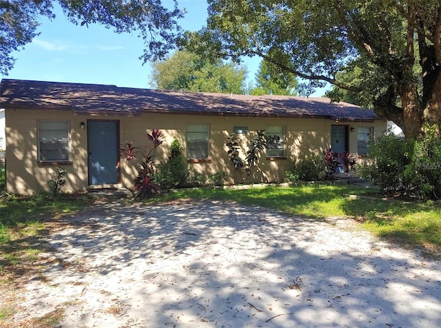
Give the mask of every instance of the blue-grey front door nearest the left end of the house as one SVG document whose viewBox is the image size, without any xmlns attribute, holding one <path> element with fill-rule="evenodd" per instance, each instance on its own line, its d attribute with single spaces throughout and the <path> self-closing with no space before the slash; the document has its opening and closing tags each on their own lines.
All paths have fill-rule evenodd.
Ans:
<svg viewBox="0 0 441 328">
<path fill-rule="evenodd" d="M 118 131 L 118 121 L 88 121 L 89 185 L 119 182 Z"/>
</svg>

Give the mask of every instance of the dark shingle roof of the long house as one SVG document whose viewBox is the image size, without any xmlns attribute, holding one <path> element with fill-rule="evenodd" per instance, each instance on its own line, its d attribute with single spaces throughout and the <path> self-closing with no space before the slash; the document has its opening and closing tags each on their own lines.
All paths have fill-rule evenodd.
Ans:
<svg viewBox="0 0 441 328">
<path fill-rule="evenodd" d="M 247 96 L 178 92 L 116 85 L 3 79 L 0 104 L 6 108 L 72 110 L 75 114 L 137 116 L 142 112 L 223 116 L 318 117 L 341 121 L 381 119 L 372 110 L 327 98 Z"/>
</svg>

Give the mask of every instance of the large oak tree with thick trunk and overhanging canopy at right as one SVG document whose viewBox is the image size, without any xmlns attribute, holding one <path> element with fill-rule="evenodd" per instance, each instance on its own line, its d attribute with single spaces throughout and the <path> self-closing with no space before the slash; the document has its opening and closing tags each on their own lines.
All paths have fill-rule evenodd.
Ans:
<svg viewBox="0 0 441 328">
<path fill-rule="evenodd" d="M 439 0 L 209 0 L 207 26 L 187 34 L 206 55 L 258 55 L 309 81 L 365 92 L 407 136 L 441 125 Z M 418 61 L 418 58 L 420 59 Z M 362 83 L 341 72 L 360 68 Z M 421 82 L 422 88 L 418 89 Z"/>
</svg>

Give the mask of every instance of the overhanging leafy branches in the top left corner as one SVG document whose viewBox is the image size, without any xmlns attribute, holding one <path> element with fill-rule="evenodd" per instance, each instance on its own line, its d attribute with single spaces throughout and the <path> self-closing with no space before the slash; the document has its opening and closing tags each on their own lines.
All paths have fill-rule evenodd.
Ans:
<svg viewBox="0 0 441 328">
<path fill-rule="evenodd" d="M 0 0 L 0 72 L 8 74 L 14 65 L 12 53 L 30 43 L 39 32 L 39 17 L 54 19 L 51 0 Z M 176 45 L 181 29 L 176 19 L 183 16 L 159 0 L 57 0 L 72 23 L 103 24 L 115 32 L 139 32 L 145 43 L 143 61 L 159 59 Z"/>
</svg>

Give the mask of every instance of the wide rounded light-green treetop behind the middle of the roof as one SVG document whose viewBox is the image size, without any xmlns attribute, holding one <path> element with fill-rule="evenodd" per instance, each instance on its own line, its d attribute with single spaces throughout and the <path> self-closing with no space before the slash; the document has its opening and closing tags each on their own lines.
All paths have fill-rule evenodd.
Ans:
<svg viewBox="0 0 441 328">
<path fill-rule="evenodd" d="M 243 94 L 247 69 L 181 50 L 152 63 L 152 86 L 165 90 Z"/>
</svg>

